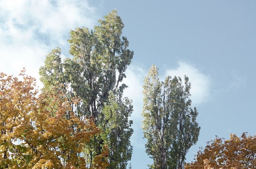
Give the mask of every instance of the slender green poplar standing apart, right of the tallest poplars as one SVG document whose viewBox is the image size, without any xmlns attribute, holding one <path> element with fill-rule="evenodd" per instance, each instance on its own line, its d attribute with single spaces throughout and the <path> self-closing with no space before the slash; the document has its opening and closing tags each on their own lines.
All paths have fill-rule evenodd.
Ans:
<svg viewBox="0 0 256 169">
<path fill-rule="evenodd" d="M 183 168 L 186 153 L 198 140 L 198 112 L 191 108 L 189 78 L 184 80 L 185 86 L 176 76 L 160 82 L 155 65 L 145 77 L 141 127 L 148 139 L 146 152 L 154 160 L 150 168 Z"/>
</svg>

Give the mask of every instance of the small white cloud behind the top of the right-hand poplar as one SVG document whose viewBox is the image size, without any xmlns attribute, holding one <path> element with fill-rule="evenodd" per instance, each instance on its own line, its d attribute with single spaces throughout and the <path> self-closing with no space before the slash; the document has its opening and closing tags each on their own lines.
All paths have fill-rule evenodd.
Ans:
<svg viewBox="0 0 256 169">
<path fill-rule="evenodd" d="M 186 62 L 180 61 L 178 65 L 176 69 L 166 70 L 166 76 L 180 76 L 181 78 L 183 78 L 184 75 L 188 76 L 189 82 L 191 82 L 190 98 L 192 104 L 198 105 L 206 102 L 210 97 L 210 77 Z"/>
</svg>

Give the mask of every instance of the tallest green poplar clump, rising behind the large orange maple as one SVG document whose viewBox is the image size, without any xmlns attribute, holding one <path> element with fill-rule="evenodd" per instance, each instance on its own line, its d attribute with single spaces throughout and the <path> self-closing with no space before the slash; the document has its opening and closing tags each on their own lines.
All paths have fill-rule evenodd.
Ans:
<svg viewBox="0 0 256 169">
<path fill-rule="evenodd" d="M 121 84 L 133 51 L 122 35 L 124 24 L 113 10 L 99 20 L 94 30 L 76 28 L 70 31 L 70 54 L 61 62 L 61 50 L 54 49 L 40 68 L 41 81 L 47 90 L 65 84 L 71 96 L 80 98 L 74 110 L 81 120 L 93 117 L 103 132 L 85 147 L 92 162 L 105 144 L 109 146 L 111 169 L 126 168 L 131 158 L 130 136 L 133 132 L 131 101 L 123 97 L 127 87 Z M 51 87 L 49 87 L 51 86 Z M 58 87 L 60 90 L 63 88 Z"/>
</svg>

